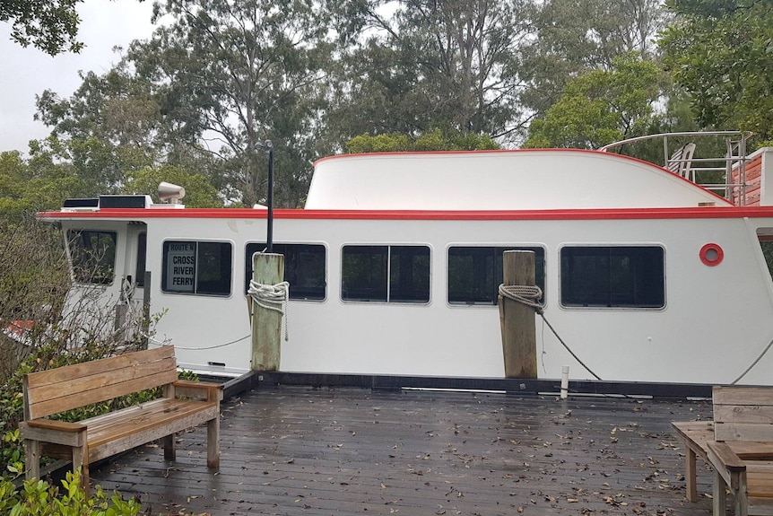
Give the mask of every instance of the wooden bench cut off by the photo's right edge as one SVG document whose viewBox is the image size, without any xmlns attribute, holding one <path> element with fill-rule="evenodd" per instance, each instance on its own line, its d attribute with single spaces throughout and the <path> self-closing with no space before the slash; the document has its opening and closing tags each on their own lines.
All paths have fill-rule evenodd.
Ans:
<svg viewBox="0 0 773 516">
<path fill-rule="evenodd" d="M 695 459 L 714 468 L 714 515 L 773 514 L 773 388 L 715 387 L 713 422 L 673 423 L 685 442 L 687 499 L 697 500 Z"/>
</svg>

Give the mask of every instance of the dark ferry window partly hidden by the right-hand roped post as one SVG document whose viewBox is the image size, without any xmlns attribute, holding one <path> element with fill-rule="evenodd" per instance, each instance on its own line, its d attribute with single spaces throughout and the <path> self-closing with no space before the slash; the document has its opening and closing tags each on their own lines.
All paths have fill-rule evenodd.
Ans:
<svg viewBox="0 0 773 516">
<path fill-rule="evenodd" d="M 545 250 L 539 247 L 448 248 L 448 303 L 497 304 L 502 283 L 502 253 L 534 251 L 534 283 L 545 290 Z"/>
</svg>

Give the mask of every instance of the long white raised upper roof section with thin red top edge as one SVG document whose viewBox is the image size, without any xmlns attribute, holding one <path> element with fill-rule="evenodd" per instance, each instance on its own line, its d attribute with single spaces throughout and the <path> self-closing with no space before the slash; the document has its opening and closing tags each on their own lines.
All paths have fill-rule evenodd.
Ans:
<svg viewBox="0 0 773 516">
<path fill-rule="evenodd" d="M 315 163 L 306 209 L 732 206 L 656 165 L 571 149 L 345 154 Z"/>
</svg>

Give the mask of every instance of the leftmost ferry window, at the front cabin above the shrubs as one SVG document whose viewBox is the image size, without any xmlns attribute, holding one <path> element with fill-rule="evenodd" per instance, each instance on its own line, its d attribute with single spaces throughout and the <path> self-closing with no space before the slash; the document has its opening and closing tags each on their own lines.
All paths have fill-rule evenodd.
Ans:
<svg viewBox="0 0 773 516">
<path fill-rule="evenodd" d="M 116 232 L 71 230 L 67 234 L 77 283 L 111 284 L 116 270 Z"/>
</svg>

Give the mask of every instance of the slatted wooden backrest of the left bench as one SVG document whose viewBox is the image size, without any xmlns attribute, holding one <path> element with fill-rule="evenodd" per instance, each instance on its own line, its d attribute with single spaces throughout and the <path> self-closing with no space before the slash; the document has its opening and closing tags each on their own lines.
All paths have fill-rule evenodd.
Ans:
<svg viewBox="0 0 773 516">
<path fill-rule="evenodd" d="M 76 363 L 24 375 L 24 419 L 166 385 L 178 379 L 174 346 Z"/>
</svg>

